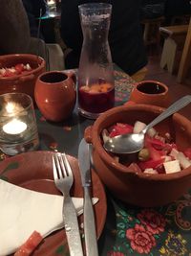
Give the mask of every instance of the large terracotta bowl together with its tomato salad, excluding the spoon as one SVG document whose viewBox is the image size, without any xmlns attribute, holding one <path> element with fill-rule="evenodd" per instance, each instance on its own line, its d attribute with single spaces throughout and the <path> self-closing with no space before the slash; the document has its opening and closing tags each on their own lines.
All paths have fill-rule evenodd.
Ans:
<svg viewBox="0 0 191 256">
<path fill-rule="evenodd" d="M 163 110 L 155 105 L 117 106 L 86 129 L 85 138 L 94 146 L 96 172 L 116 198 L 155 207 L 180 198 L 191 188 L 191 122 L 179 113 L 148 132 L 142 154 L 121 156 L 103 148 L 108 136 L 138 131 Z"/>
</svg>

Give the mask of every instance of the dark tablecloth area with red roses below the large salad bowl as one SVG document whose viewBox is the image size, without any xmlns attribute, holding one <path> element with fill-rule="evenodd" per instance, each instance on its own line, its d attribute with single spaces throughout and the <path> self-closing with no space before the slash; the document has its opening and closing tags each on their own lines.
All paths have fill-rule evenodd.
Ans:
<svg viewBox="0 0 191 256">
<path fill-rule="evenodd" d="M 114 203 L 117 229 L 107 256 L 191 255 L 191 191 L 159 208 Z"/>
</svg>

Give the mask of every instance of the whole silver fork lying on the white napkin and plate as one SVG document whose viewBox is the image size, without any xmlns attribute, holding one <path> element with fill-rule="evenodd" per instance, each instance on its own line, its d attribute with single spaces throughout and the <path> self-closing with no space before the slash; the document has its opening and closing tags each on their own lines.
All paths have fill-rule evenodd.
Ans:
<svg viewBox="0 0 191 256">
<path fill-rule="evenodd" d="M 65 153 L 53 154 L 53 178 L 56 188 L 63 194 L 63 221 L 71 256 L 83 256 L 77 215 L 70 190 L 74 182 L 73 172 Z"/>
</svg>

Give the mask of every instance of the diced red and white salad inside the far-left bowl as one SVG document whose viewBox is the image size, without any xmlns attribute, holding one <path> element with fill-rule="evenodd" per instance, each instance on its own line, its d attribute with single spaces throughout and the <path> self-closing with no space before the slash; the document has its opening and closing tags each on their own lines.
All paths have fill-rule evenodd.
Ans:
<svg viewBox="0 0 191 256">
<path fill-rule="evenodd" d="M 0 68 L 0 78 L 8 78 L 13 77 L 21 74 L 27 74 L 27 72 L 31 71 L 32 67 L 29 63 L 26 65 L 23 63 L 18 63 L 15 66 L 12 66 L 10 68 L 3 67 Z"/>
</svg>

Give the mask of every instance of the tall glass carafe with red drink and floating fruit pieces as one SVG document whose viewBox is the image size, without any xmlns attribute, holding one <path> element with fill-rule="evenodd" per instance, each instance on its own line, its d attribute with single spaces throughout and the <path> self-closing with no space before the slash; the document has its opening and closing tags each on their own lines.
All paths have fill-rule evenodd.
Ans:
<svg viewBox="0 0 191 256">
<path fill-rule="evenodd" d="M 108 43 L 112 5 L 79 6 L 83 45 L 78 69 L 78 110 L 88 118 L 115 104 L 113 62 Z"/>
</svg>

